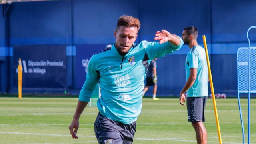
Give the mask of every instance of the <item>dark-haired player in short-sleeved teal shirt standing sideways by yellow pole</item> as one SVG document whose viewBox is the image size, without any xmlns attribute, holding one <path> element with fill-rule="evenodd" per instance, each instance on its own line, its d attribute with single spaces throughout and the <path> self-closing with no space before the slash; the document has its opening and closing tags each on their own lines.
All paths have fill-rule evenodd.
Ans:
<svg viewBox="0 0 256 144">
<path fill-rule="evenodd" d="M 206 62 L 205 50 L 197 43 L 198 30 L 196 27 L 184 28 L 182 40 L 190 48 L 188 52 L 186 68 L 186 84 L 180 92 L 180 104 L 184 105 L 187 92 L 187 110 L 188 121 L 196 131 L 196 140 L 198 144 L 207 143 L 207 131 L 204 127 L 204 109 L 208 96 L 208 68 Z M 183 102 L 182 102 L 183 101 Z"/>
</svg>

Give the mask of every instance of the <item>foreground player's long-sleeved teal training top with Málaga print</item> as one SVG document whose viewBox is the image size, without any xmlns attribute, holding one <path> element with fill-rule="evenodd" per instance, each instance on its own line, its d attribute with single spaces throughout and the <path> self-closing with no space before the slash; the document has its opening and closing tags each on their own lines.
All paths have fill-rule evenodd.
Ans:
<svg viewBox="0 0 256 144">
<path fill-rule="evenodd" d="M 170 42 L 142 41 L 134 44 L 125 56 L 118 53 L 115 44 L 94 54 L 79 100 L 89 102 L 92 91 L 100 82 L 101 98 L 97 101 L 100 114 L 124 124 L 136 121 L 141 112 L 142 90 L 150 61 L 179 50 L 182 45 L 181 38 L 178 46 Z"/>
</svg>

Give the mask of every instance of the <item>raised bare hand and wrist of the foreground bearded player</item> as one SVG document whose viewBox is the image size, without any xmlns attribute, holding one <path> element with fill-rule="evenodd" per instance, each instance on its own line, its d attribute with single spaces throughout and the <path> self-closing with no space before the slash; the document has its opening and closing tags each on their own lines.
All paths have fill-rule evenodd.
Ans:
<svg viewBox="0 0 256 144">
<path fill-rule="evenodd" d="M 180 38 L 167 30 L 157 31 L 154 40 L 159 40 L 160 44 L 169 41 L 173 46 L 180 45 Z"/>
</svg>

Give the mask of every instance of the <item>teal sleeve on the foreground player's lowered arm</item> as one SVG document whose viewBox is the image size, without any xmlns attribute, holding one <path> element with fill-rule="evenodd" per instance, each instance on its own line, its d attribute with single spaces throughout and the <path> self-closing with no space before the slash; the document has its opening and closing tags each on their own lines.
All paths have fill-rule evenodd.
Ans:
<svg viewBox="0 0 256 144">
<path fill-rule="evenodd" d="M 90 98 L 92 97 L 92 92 L 94 91 L 99 81 L 99 72 L 96 71 L 94 66 L 95 64 L 92 56 L 87 67 L 86 80 L 79 94 L 80 101 L 83 101 L 83 102 L 90 101 Z"/>
</svg>

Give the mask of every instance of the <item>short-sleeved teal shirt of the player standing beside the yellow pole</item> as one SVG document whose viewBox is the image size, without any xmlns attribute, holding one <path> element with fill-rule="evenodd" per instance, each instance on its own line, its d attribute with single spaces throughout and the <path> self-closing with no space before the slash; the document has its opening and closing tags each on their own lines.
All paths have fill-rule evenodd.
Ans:
<svg viewBox="0 0 256 144">
<path fill-rule="evenodd" d="M 194 46 L 186 58 L 186 80 L 190 75 L 191 68 L 197 68 L 194 84 L 187 91 L 188 97 L 208 96 L 208 67 L 205 50 L 202 46 Z"/>
</svg>

